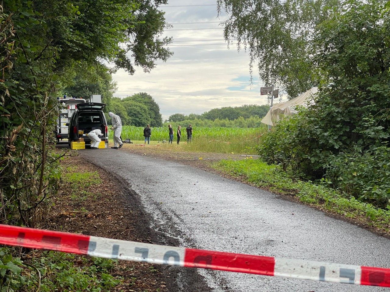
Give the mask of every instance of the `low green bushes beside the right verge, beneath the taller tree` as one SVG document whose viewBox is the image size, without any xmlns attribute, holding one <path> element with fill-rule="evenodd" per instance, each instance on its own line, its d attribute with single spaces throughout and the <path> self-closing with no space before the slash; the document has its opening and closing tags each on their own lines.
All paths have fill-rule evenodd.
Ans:
<svg viewBox="0 0 390 292">
<path fill-rule="evenodd" d="M 390 153 L 387 146 L 351 143 L 337 152 L 337 143 L 319 130 L 307 109 L 284 119 L 262 137 L 262 160 L 279 165 L 290 176 L 326 181 L 347 197 L 387 208 L 390 199 Z M 371 129 L 373 132 L 375 129 Z M 368 132 L 368 128 L 367 128 Z M 390 206 L 389 206 L 390 207 Z"/>
</svg>

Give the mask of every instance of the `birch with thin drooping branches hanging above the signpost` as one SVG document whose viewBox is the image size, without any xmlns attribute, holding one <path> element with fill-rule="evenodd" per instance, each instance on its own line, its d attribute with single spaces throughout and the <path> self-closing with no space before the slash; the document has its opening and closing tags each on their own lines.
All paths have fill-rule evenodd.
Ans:
<svg viewBox="0 0 390 292">
<path fill-rule="evenodd" d="M 257 63 L 260 79 L 296 97 L 317 84 L 308 66 L 308 40 L 340 0 L 217 0 L 229 15 L 224 37 L 249 51 L 250 73 Z"/>
</svg>

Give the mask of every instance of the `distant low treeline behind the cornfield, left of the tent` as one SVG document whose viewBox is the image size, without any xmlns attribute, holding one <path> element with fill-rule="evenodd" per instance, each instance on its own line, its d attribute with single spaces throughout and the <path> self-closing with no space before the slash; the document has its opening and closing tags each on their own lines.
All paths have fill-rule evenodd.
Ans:
<svg viewBox="0 0 390 292">
<path fill-rule="evenodd" d="M 239 107 L 222 107 L 211 109 L 203 114 L 172 114 L 166 122 L 193 121 L 199 126 L 215 127 L 258 127 L 260 120 L 267 114 L 268 105 L 255 104 Z"/>
</svg>

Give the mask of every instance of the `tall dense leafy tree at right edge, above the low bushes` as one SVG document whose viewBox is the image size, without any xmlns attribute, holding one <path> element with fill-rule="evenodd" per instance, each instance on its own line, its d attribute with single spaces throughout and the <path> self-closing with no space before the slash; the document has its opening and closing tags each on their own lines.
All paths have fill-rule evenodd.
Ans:
<svg viewBox="0 0 390 292">
<path fill-rule="evenodd" d="M 324 84 L 313 116 L 333 151 L 351 143 L 371 147 L 389 141 L 390 19 L 385 11 L 378 1 L 351 0 L 318 27 L 314 64 L 322 69 Z"/>
</svg>

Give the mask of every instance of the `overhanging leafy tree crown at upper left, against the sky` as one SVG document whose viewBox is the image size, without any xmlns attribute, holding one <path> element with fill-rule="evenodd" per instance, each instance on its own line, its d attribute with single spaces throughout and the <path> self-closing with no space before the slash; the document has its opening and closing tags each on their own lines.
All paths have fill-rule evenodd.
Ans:
<svg viewBox="0 0 390 292">
<path fill-rule="evenodd" d="M 37 11 L 47 14 L 51 45 L 61 48 L 58 63 L 69 59 L 95 62 L 99 57 L 134 74 L 131 59 L 149 72 L 156 66 L 155 60 L 166 61 L 172 55 L 164 47 L 171 39 L 159 39 L 167 23 L 156 7 L 165 2 L 81 0 L 76 7 L 53 0 L 33 3 Z M 66 17 L 68 7 L 76 9 L 74 17 Z"/>
</svg>

